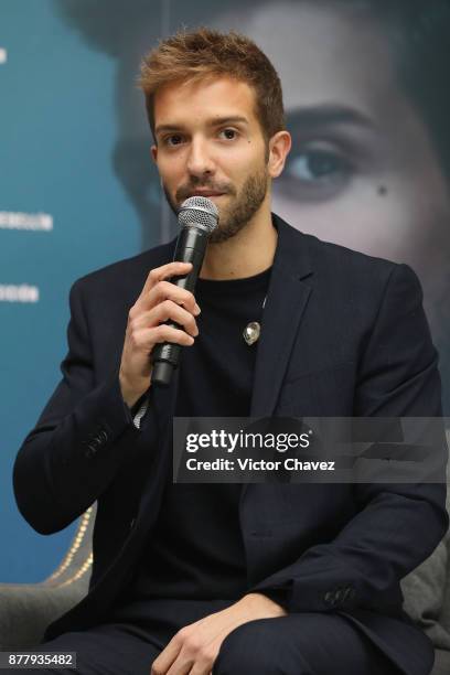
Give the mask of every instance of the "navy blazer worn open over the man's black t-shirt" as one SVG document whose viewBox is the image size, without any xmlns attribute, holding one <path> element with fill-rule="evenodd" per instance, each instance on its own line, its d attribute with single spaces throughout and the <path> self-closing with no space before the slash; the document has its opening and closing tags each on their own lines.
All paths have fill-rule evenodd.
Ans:
<svg viewBox="0 0 450 675">
<path fill-rule="evenodd" d="M 274 224 L 251 416 L 440 416 L 438 357 L 411 269 L 320 242 L 278 216 Z M 128 312 L 174 244 L 74 283 L 63 379 L 15 460 L 18 505 L 40 533 L 98 501 L 89 593 L 46 639 L 108 617 L 158 518 L 176 379 L 150 387 L 137 429 L 118 369 Z M 401 610 L 399 581 L 448 527 L 443 448 L 438 461 L 442 483 L 243 485 L 249 588 L 288 587 L 290 611 L 340 612 L 404 673 L 427 673 L 432 649 Z"/>
</svg>

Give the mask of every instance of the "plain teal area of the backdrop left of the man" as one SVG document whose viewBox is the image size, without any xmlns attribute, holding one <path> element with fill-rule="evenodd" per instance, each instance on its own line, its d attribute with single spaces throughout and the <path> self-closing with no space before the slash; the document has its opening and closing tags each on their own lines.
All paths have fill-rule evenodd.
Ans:
<svg viewBox="0 0 450 675">
<path fill-rule="evenodd" d="M 129 153 L 146 156 L 147 212 L 150 215 L 152 206 L 158 215 L 148 135 L 139 138 L 131 128 L 128 136 L 119 136 L 119 53 L 86 40 L 58 4 L 64 2 L 0 3 L 3 582 L 38 581 L 51 574 L 74 532 L 73 525 L 51 537 L 34 533 L 18 513 L 11 485 L 17 450 L 60 378 L 69 287 L 82 275 L 160 239 L 157 217 L 147 218 L 142 234 L 140 214 L 118 175 L 118 149 L 124 152 L 128 144 Z M 160 30 L 157 11 L 154 33 Z M 129 88 L 141 104 L 132 82 Z M 49 227 L 50 219 L 51 229 L 40 228 Z M 14 289 L 20 293 L 17 289 L 23 286 L 33 289 L 29 298 L 24 294 L 29 301 L 11 301 Z"/>
</svg>

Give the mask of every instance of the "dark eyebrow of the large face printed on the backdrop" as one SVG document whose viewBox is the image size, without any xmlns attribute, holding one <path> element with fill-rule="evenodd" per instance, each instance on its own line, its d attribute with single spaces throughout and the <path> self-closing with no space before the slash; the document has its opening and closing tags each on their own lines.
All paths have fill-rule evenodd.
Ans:
<svg viewBox="0 0 450 675">
<path fill-rule="evenodd" d="M 293 108 L 287 110 L 286 116 L 290 124 L 306 130 L 331 125 L 356 125 L 364 128 L 375 128 L 375 122 L 364 113 L 338 105 Z"/>
</svg>

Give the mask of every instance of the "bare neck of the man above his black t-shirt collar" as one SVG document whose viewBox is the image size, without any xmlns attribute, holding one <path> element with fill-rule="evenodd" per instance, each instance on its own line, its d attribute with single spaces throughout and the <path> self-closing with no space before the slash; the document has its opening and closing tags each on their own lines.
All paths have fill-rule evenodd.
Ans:
<svg viewBox="0 0 450 675">
<path fill-rule="evenodd" d="M 264 204 L 234 236 L 221 244 L 208 244 L 201 279 L 244 279 L 268 269 L 277 248 L 278 233 L 272 225 L 270 206 Z"/>
</svg>

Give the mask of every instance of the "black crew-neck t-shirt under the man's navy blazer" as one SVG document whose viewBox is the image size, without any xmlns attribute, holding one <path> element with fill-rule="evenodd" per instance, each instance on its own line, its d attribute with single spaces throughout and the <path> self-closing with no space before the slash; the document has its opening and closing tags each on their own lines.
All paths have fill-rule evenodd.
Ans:
<svg viewBox="0 0 450 675">
<path fill-rule="evenodd" d="M 185 347 L 178 417 L 246 417 L 258 343 L 243 331 L 260 321 L 271 268 L 246 279 L 199 279 L 200 335 Z M 248 592 L 239 525 L 242 484 L 182 484 L 167 476 L 158 524 L 132 587 L 132 599 L 238 599 Z"/>
</svg>

